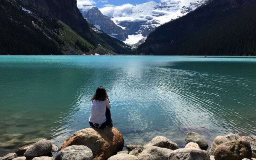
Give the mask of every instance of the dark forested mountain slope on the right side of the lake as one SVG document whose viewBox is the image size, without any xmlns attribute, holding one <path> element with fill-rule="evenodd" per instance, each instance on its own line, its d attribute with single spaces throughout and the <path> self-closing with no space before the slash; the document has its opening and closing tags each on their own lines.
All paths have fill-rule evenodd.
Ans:
<svg viewBox="0 0 256 160">
<path fill-rule="evenodd" d="M 211 0 L 152 32 L 138 54 L 256 55 L 256 1 Z"/>
</svg>

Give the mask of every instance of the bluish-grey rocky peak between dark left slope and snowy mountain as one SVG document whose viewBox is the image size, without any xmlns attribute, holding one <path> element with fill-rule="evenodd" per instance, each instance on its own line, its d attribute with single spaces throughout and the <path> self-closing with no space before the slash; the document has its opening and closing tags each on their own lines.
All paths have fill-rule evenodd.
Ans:
<svg viewBox="0 0 256 160">
<path fill-rule="evenodd" d="M 125 41 L 128 35 L 125 31 L 117 26 L 108 16 L 104 16 L 96 6 L 86 5 L 79 8 L 80 12 L 87 18 L 98 30 L 102 30 L 108 35 Z"/>
</svg>

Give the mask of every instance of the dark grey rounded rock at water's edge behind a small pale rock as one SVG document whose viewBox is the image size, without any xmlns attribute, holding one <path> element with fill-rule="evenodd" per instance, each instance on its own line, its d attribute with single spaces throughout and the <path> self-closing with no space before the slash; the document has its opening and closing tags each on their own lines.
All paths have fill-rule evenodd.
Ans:
<svg viewBox="0 0 256 160">
<path fill-rule="evenodd" d="M 185 141 L 187 143 L 189 142 L 197 143 L 202 150 L 206 150 L 208 148 L 208 144 L 206 140 L 196 132 L 188 132 L 185 137 Z"/>
</svg>

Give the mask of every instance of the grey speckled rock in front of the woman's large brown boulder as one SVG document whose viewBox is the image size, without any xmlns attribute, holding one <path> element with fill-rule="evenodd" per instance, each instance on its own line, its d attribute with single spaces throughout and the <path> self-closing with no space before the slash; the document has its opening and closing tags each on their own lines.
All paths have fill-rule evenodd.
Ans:
<svg viewBox="0 0 256 160">
<path fill-rule="evenodd" d="M 68 146 L 56 154 L 55 160 L 92 160 L 92 150 L 86 146 Z"/>
</svg>

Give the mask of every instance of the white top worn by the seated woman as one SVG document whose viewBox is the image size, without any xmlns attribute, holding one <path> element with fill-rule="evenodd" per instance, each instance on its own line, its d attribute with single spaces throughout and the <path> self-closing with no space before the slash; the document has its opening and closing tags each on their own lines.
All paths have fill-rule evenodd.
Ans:
<svg viewBox="0 0 256 160">
<path fill-rule="evenodd" d="M 102 124 L 106 122 L 106 107 L 111 108 L 108 99 L 106 100 L 93 100 L 91 107 L 91 116 L 89 122 Z"/>
</svg>

